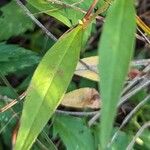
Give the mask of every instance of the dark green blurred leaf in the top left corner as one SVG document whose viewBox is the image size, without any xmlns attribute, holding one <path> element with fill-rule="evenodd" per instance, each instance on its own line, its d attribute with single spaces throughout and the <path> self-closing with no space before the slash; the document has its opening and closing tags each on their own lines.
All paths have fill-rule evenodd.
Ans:
<svg viewBox="0 0 150 150">
<path fill-rule="evenodd" d="M 33 28 L 31 19 L 14 1 L 2 7 L 0 12 L 0 40 L 6 40 Z"/>
</svg>

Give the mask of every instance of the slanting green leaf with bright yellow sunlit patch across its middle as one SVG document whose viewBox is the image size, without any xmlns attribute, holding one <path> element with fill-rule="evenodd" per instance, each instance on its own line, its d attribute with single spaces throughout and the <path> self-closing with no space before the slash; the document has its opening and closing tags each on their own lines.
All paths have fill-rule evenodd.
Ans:
<svg viewBox="0 0 150 150">
<path fill-rule="evenodd" d="M 63 35 L 46 53 L 28 88 L 15 150 L 30 149 L 61 102 L 76 68 L 82 27 Z"/>
</svg>

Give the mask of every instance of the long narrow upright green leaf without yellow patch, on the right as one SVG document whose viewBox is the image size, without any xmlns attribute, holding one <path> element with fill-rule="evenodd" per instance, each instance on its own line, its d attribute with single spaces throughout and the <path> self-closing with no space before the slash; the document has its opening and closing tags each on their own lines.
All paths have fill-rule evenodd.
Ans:
<svg viewBox="0 0 150 150">
<path fill-rule="evenodd" d="M 133 0 L 116 0 L 106 17 L 99 43 L 99 72 L 102 98 L 101 146 L 104 149 L 112 132 L 116 106 L 120 99 L 135 43 Z"/>
</svg>

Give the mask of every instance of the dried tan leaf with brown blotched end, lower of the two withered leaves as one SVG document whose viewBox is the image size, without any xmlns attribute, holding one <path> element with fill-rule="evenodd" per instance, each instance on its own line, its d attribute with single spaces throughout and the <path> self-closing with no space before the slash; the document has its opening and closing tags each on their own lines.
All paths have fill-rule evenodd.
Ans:
<svg viewBox="0 0 150 150">
<path fill-rule="evenodd" d="M 73 108 L 100 108 L 99 93 L 94 88 L 81 88 L 67 93 L 61 105 Z"/>
</svg>

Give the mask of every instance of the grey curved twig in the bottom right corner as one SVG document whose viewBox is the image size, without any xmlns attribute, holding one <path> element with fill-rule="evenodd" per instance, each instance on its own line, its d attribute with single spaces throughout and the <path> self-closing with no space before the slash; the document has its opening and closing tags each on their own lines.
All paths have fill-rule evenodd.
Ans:
<svg viewBox="0 0 150 150">
<path fill-rule="evenodd" d="M 134 138 L 132 139 L 132 141 L 130 142 L 130 144 L 127 146 L 126 150 L 132 150 L 132 147 L 134 146 L 134 143 L 136 142 L 136 139 L 143 133 L 143 131 L 150 127 L 150 121 L 146 122 L 140 129 L 139 131 L 136 133 L 136 135 L 134 136 Z"/>
</svg>

